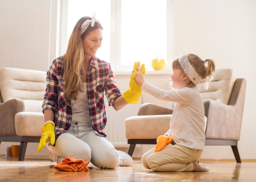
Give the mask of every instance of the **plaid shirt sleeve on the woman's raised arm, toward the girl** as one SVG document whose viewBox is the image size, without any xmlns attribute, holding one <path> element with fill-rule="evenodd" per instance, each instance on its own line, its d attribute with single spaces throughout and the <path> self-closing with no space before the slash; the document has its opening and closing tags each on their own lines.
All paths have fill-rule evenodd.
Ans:
<svg viewBox="0 0 256 182">
<path fill-rule="evenodd" d="M 116 86 L 116 81 L 114 77 L 114 73 L 109 65 L 109 76 L 107 77 L 105 83 L 105 95 L 107 97 L 107 101 L 109 102 L 109 106 L 114 107 L 114 102 L 116 99 L 122 96 L 119 88 Z"/>
</svg>

